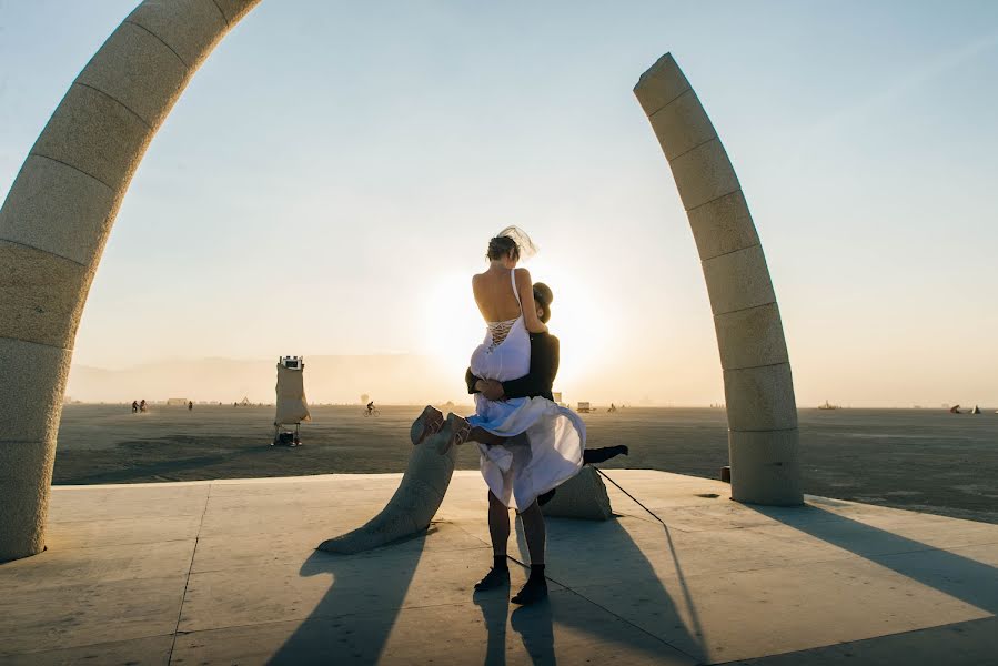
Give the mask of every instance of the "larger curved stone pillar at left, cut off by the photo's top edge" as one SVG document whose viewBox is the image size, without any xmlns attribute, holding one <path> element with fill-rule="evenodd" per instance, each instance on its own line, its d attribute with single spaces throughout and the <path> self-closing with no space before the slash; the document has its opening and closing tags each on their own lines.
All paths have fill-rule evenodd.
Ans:
<svg viewBox="0 0 998 666">
<path fill-rule="evenodd" d="M 145 0 L 93 56 L 0 209 L 0 562 L 44 547 L 77 326 L 121 200 L 160 123 L 260 0 Z"/>
</svg>

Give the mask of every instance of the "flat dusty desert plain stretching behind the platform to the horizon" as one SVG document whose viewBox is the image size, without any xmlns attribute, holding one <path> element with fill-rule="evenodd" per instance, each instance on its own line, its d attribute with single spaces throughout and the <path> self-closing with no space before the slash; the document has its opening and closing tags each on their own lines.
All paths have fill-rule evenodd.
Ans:
<svg viewBox="0 0 998 666">
<path fill-rule="evenodd" d="M 455 407 L 463 413 L 463 408 Z M 67 405 L 53 483 L 98 484 L 405 470 L 419 406 L 313 407 L 303 446 L 270 445 L 273 407 Z M 998 523 L 998 414 L 800 410 L 804 490 L 814 495 Z M 724 410 L 605 408 L 584 415 L 589 447 L 626 444 L 605 465 L 716 478 L 727 464 Z M 465 446 L 458 467 L 476 468 Z M 612 472 L 611 472 L 612 475 Z M 484 492 L 484 485 L 483 485 Z"/>
</svg>

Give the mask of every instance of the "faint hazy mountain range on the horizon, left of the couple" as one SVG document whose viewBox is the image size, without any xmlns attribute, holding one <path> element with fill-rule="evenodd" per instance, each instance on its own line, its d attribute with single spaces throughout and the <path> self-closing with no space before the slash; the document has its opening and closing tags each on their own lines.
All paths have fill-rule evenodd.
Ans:
<svg viewBox="0 0 998 666">
<path fill-rule="evenodd" d="M 185 397 L 223 403 L 273 402 L 276 356 L 269 360 L 192 359 L 122 370 L 73 365 L 67 396 L 83 402 L 164 401 Z M 311 403 L 357 403 L 362 394 L 383 404 L 467 402 L 461 371 L 429 356 L 376 354 L 306 356 Z"/>
</svg>

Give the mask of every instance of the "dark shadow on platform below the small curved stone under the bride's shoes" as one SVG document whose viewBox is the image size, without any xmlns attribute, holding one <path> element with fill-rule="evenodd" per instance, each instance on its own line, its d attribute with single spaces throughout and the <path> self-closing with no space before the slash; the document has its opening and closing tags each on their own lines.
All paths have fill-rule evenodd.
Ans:
<svg viewBox="0 0 998 666">
<path fill-rule="evenodd" d="M 359 555 L 315 551 L 299 574 L 332 576 L 332 586 L 268 664 L 376 664 L 433 532 Z"/>
</svg>

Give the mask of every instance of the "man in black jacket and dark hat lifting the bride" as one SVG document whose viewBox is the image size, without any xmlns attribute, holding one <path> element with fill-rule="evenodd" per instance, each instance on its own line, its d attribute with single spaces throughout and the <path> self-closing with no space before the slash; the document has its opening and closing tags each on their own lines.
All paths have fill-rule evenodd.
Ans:
<svg viewBox="0 0 998 666">
<path fill-rule="evenodd" d="M 534 284 L 534 302 L 537 305 L 537 317 L 547 323 L 551 319 L 551 302 L 554 294 L 551 287 L 543 282 Z M 483 380 L 472 374 L 471 369 L 464 375 L 467 382 L 468 393 L 481 393 L 487 400 L 508 400 L 516 397 L 544 397 L 554 401 L 551 392 L 554 379 L 558 373 L 560 344 L 558 339 L 550 333 L 531 333 L 531 366 L 526 375 L 507 382 Z M 520 435 L 526 436 L 526 435 Z M 602 463 L 619 454 L 627 454 L 626 446 L 608 446 L 583 451 L 584 463 Z M 551 490 L 537 497 L 537 505 L 543 506 L 553 496 Z M 544 549 L 544 518 L 537 506 L 531 506 L 521 514 L 527 545 L 531 546 L 531 574 L 523 589 L 513 597 L 513 603 L 532 604 L 547 596 L 547 582 L 544 577 L 543 557 L 533 562 L 536 545 L 543 555 Z M 492 492 L 488 493 L 488 533 L 493 542 L 494 564 L 488 574 L 475 585 L 475 591 L 481 592 L 510 584 L 510 571 L 506 565 L 506 542 L 510 538 L 510 514 L 505 505 L 500 502 Z"/>
</svg>

